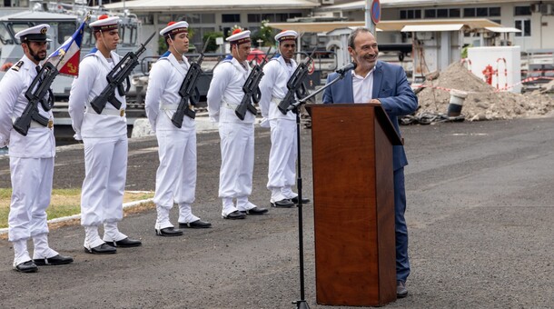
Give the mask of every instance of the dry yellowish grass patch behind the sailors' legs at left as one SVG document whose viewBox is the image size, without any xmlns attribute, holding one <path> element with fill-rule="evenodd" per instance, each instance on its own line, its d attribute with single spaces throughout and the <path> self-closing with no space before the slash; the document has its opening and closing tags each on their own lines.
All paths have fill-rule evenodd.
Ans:
<svg viewBox="0 0 554 309">
<path fill-rule="evenodd" d="M 0 228 L 7 227 L 12 189 L 0 188 Z M 125 192 L 124 203 L 152 198 L 153 192 Z M 50 206 L 46 208 L 48 220 L 81 213 L 81 189 L 52 190 Z"/>
</svg>

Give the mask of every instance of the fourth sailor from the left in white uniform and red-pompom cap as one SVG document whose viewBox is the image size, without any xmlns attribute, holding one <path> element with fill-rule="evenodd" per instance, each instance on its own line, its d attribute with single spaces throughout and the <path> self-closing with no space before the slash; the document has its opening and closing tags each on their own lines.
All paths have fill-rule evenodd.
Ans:
<svg viewBox="0 0 554 309">
<path fill-rule="evenodd" d="M 243 219 L 246 214 L 265 214 L 266 208 L 248 201 L 252 194 L 254 168 L 254 115 L 246 113 L 244 120 L 235 115 L 244 92 L 242 85 L 251 68 L 246 61 L 250 55 L 250 31 L 237 29 L 227 37 L 231 44 L 228 55 L 213 70 L 208 90 L 208 111 L 213 122 L 219 123 L 222 166 L 219 177 L 219 197 L 223 200 L 225 219 Z M 233 203 L 236 199 L 236 204 Z"/>
</svg>

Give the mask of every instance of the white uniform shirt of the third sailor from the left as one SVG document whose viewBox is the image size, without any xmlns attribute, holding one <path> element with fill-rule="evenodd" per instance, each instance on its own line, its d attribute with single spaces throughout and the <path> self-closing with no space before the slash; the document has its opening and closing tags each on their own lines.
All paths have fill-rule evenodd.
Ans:
<svg viewBox="0 0 554 309">
<path fill-rule="evenodd" d="M 183 62 L 179 63 L 173 54 L 163 55 L 153 65 L 144 106 L 153 131 L 180 130 L 171 119 L 181 101 L 179 88 L 190 66 L 186 57 L 183 56 Z M 185 115 L 181 129 L 191 127 L 194 127 L 194 119 Z"/>
</svg>

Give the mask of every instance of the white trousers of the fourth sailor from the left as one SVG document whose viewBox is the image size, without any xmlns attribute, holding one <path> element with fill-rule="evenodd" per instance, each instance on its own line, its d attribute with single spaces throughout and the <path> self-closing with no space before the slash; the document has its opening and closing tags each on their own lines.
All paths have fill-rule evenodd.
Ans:
<svg viewBox="0 0 554 309">
<path fill-rule="evenodd" d="M 249 196 L 254 169 L 254 125 L 220 123 L 219 136 L 222 151 L 219 197 Z"/>
</svg>

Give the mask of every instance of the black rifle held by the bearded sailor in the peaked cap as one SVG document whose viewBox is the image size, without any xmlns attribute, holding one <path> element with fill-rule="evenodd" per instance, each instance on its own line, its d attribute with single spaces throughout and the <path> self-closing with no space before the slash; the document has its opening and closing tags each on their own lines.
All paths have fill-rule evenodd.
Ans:
<svg viewBox="0 0 554 309">
<path fill-rule="evenodd" d="M 45 63 L 45 65 L 43 65 L 38 74 L 35 76 L 35 79 L 31 83 L 31 85 L 29 85 L 29 88 L 27 88 L 27 91 L 25 92 L 25 97 L 27 98 L 27 100 L 29 100 L 29 104 L 25 106 L 23 114 L 17 117 L 14 122 L 14 129 L 20 135 L 27 135 L 32 120 L 35 120 L 35 122 L 44 126 L 48 125 L 49 119 L 39 114 L 38 104 L 41 103 L 46 111 L 52 108 L 54 98 L 52 97 L 52 95 L 49 95 L 48 101 L 50 102 L 46 102 L 45 95 L 51 94 L 50 85 L 52 85 L 52 83 L 54 82 L 54 78 L 56 75 L 58 75 L 58 69 L 51 63 L 47 62 Z"/>
</svg>

